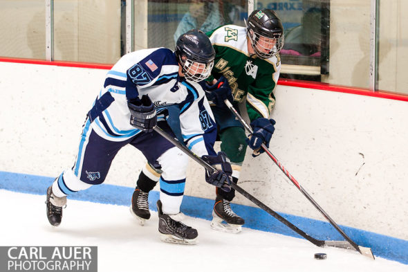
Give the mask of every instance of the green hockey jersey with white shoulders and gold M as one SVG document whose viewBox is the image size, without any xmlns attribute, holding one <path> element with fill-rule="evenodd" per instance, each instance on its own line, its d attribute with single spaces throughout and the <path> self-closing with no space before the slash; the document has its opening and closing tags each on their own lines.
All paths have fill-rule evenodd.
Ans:
<svg viewBox="0 0 408 272">
<path fill-rule="evenodd" d="M 224 75 L 232 89 L 234 107 L 246 97 L 250 120 L 269 118 L 275 105 L 272 91 L 277 85 L 281 60 L 279 54 L 261 60 L 248 53 L 246 28 L 226 25 L 207 33 L 214 46 L 216 57 L 212 77 Z"/>
</svg>

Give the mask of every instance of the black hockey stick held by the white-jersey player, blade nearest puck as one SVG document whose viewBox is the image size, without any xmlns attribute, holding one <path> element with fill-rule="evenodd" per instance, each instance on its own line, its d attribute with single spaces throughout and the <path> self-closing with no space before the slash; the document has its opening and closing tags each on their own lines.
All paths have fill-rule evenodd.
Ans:
<svg viewBox="0 0 408 272">
<path fill-rule="evenodd" d="M 183 151 L 185 154 L 187 154 L 187 156 L 192 158 L 199 165 L 205 167 L 205 169 L 207 169 L 208 171 L 210 171 L 210 172 L 215 171 L 214 167 L 212 167 L 211 165 L 209 165 L 208 163 L 203 161 L 202 158 L 200 158 L 196 154 L 194 154 L 185 145 L 181 144 L 178 140 L 176 140 L 176 138 L 173 138 L 171 135 L 167 134 L 167 132 L 163 131 L 163 129 L 160 129 L 160 127 L 156 126 L 154 128 L 154 131 L 157 132 L 158 134 L 160 134 L 161 136 L 163 136 L 164 138 L 166 138 L 167 140 L 169 140 L 170 143 L 172 143 L 173 145 L 178 147 L 181 151 Z M 320 247 L 333 246 L 333 247 L 336 247 L 336 248 L 346 248 L 346 249 L 353 248 L 351 246 L 351 244 L 349 242 L 346 242 L 346 241 L 324 241 L 324 240 L 319 240 L 319 239 L 315 239 L 315 238 L 311 237 L 310 235 L 305 233 L 303 230 L 297 228 L 297 226 L 290 223 L 290 221 L 286 220 L 284 217 L 281 217 L 281 215 L 279 215 L 277 212 L 275 212 L 274 210 L 272 210 L 271 208 L 269 208 L 268 206 L 263 204 L 261 201 L 259 201 L 255 197 L 253 197 L 249 192 L 246 192 L 245 190 L 243 190 L 243 188 L 239 187 L 239 185 L 232 182 L 231 186 L 232 186 L 232 188 L 237 190 L 237 192 L 242 194 L 243 197 L 245 197 L 246 199 L 252 201 L 252 203 L 259 206 L 259 208 L 261 208 L 262 210 L 265 210 L 266 212 L 268 212 L 268 214 L 272 215 L 272 217 L 275 217 L 276 219 L 281 221 L 283 224 L 288 226 L 290 229 L 294 230 L 297 234 L 304 237 L 305 239 L 307 239 L 309 242 L 315 244 L 316 246 L 320 246 Z"/>
</svg>

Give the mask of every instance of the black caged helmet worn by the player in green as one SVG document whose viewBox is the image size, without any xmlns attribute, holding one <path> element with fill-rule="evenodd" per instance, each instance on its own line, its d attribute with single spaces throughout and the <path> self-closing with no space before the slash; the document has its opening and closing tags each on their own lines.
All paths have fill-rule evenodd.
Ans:
<svg viewBox="0 0 408 272">
<path fill-rule="evenodd" d="M 246 27 L 251 46 L 258 57 L 268 59 L 284 47 L 284 26 L 274 10 L 254 10 L 248 17 Z"/>
</svg>

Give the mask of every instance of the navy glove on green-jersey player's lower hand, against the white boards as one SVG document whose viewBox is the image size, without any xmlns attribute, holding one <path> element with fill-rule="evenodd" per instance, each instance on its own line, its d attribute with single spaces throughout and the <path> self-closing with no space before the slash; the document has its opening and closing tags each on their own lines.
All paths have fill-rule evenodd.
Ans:
<svg viewBox="0 0 408 272">
<path fill-rule="evenodd" d="M 269 147 L 270 138 L 272 138 L 272 134 L 275 132 L 275 124 L 275 120 L 266 118 L 257 118 L 251 122 L 251 127 L 254 129 L 254 132 L 249 138 L 246 138 L 246 143 L 254 150 L 252 153 L 253 157 L 265 152 L 261 148 L 262 143 L 265 143 L 266 147 Z"/>
</svg>

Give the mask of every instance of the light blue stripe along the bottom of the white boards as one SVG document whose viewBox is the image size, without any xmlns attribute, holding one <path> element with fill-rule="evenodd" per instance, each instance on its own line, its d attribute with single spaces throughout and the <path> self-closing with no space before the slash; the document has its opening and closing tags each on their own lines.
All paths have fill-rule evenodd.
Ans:
<svg viewBox="0 0 408 272">
<path fill-rule="evenodd" d="M 0 189 L 28 194 L 41 194 L 44 195 L 45 200 L 46 190 L 51 183 L 53 183 L 54 179 L 55 178 L 48 176 L 34 176 L 30 174 L 0 171 Z M 70 194 L 68 196 L 68 201 L 69 199 L 75 199 L 129 206 L 133 190 L 134 188 L 118 185 L 93 185 L 87 190 Z M 151 210 L 156 210 L 158 196 L 159 193 L 156 191 L 151 191 L 149 193 L 149 207 Z M 184 196 L 180 210 L 182 210 L 185 215 L 211 220 L 211 209 L 213 205 L 214 200 L 212 199 Z M 299 237 L 299 235 L 293 230 L 290 230 L 290 228 L 281 224 L 280 221 L 260 208 L 233 203 L 231 206 L 237 214 L 245 218 L 244 226 L 247 228 Z M 343 240 L 342 236 L 326 221 L 288 215 L 283 212 L 280 212 L 279 214 L 312 237 L 324 240 Z M 371 233 L 358 228 L 347 226 L 340 226 L 340 228 L 342 228 L 342 230 L 344 230 L 344 232 L 360 246 L 371 248 L 375 256 L 401 262 L 402 264 L 408 264 L 408 241 L 387 235 L 380 235 L 378 233 Z"/>
</svg>

